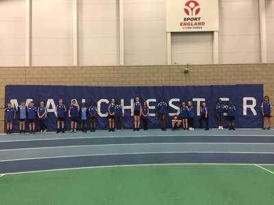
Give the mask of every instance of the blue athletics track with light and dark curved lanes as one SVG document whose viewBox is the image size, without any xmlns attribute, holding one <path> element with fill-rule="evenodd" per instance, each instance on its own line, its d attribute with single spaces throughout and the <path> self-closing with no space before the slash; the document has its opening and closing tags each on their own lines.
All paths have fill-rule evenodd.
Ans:
<svg viewBox="0 0 274 205">
<path fill-rule="evenodd" d="M 153 164 L 274 164 L 274 131 L 0 135 L 0 173 Z"/>
</svg>

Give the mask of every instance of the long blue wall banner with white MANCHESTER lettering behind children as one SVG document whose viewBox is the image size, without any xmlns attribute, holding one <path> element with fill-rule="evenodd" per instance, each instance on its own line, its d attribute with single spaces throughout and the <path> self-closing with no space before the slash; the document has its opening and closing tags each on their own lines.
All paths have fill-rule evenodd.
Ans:
<svg viewBox="0 0 274 205">
<path fill-rule="evenodd" d="M 64 86 L 64 85 L 7 85 L 5 87 L 6 104 L 12 102 L 18 107 L 21 100 L 27 105 L 34 100 L 38 107 L 43 100 L 48 110 L 45 123 L 49 131 L 56 130 L 55 106 L 58 105 L 58 98 L 64 100 L 64 105 L 69 109 L 71 100 L 76 99 L 79 105 L 95 100 L 98 108 L 97 129 L 108 128 L 108 103 L 111 98 L 121 100 L 124 110 L 124 128 L 134 127 L 132 106 L 135 97 L 139 96 L 141 102 L 147 101 L 149 105 L 149 128 L 160 128 L 160 120 L 155 116 L 159 99 L 163 97 L 168 105 L 169 114 L 166 118 L 166 125 L 171 127 L 171 119 L 179 114 L 182 101 L 193 101 L 195 108 L 195 127 L 199 127 L 199 108 L 206 100 L 209 109 L 210 128 L 218 127 L 216 118 L 217 100 L 221 98 L 226 106 L 228 100 L 233 100 L 236 107 L 236 128 L 262 128 L 262 113 L 260 105 L 263 98 L 263 85 L 193 85 L 193 86 L 132 86 L 132 87 L 91 87 L 91 86 Z M 65 128 L 70 130 L 70 119 L 66 113 Z M 224 127 L 227 126 L 224 116 Z M 37 122 L 38 125 L 38 122 Z M 27 126 L 26 126 L 27 127 Z M 36 126 L 36 131 L 39 131 Z M 88 122 L 89 128 L 89 122 Z M 141 122 L 142 128 L 142 122 Z M 27 129 L 26 129 L 27 130 Z M 18 131 L 18 120 L 14 122 L 14 131 Z"/>
</svg>

